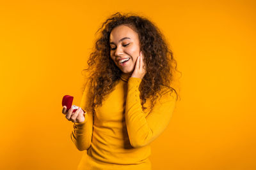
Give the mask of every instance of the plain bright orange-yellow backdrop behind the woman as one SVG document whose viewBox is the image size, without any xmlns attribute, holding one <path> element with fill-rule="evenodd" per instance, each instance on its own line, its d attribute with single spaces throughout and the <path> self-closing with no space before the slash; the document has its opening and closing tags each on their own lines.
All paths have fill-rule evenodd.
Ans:
<svg viewBox="0 0 256 170">
<path fill-rule="evenodd" d="M 255 1 L 1 1 L 0 169 L 76 169 L 61 113 L 81 100 L 95 32 L 116 11 L 148 17 L 182 72 L 153 169 L 256 169 Z"/>
</svg>

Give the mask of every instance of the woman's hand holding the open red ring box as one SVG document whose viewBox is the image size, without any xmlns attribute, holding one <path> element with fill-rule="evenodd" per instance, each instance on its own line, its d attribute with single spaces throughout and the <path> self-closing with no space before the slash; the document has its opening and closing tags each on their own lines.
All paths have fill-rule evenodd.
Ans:
<svg viewBox="0 0 256 170">
<path fill-rule="evenodd" d="M 73 123 L 82 123 L 84 122 L 84 111 L 79 107 L 76 112 L 72 113 L 74 108 L 70 108 L 67 111 L 67 106 L 63 106 L 62 113 L 66 115 L 67 120 Z"/>
</svg>

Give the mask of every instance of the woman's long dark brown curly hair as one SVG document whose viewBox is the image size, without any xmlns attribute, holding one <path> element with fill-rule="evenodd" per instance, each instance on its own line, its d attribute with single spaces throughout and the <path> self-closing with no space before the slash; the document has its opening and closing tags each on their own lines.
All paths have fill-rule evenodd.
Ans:
<svg viewBox="0 0 256 170">
<path fill-rule="evenodd" d="M 98 29 L 99 38 L 97 38 L 87 61 L 89 67 L 83 69 L 83 71 L 90 73 L 88 76 L 90 78 L 86 81 L 86 85 L 90 85 L 90 96 L 88 96 L 90 110 L 94 113 L 95 107 L 102 106 L 102 100 L 113 91 L 113 87 L 120 80 L 122 74 L 122 71 L 110 57 L 111 47 L 109 45 L 110 33 L 118 25 L 127 25 L 138 33 L 140 49 L 145 56 L 144 62 L 147 66 L 147 73 L 141 80 L 139 87 L 143 110 L 146 109 L 143 106 L 146 99 L 151 99 L 150 110 L 152 110 L 163 87 L 168 87 L 171 91 L 174 90 L 178 97 L 177 91 L 170 87 L 174 71 L 177 68 L 177 61 L 173 58 L 173 52 L 168 48 L 161 31 L 145 17 L 129 15 L 128 13 L 122 15 L 117 12 L 111 15 Z"/>
</svg>

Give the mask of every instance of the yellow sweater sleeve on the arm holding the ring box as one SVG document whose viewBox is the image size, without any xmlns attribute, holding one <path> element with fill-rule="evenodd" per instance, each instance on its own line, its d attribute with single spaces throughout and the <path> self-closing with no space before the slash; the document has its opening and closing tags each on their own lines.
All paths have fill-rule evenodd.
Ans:
<svg viewBox="0 0 256 170">
<path fill-rule="evenodd" d="M 71 140 L 80 151 L 88 150 L 92 144 L 93 115 L 92 112 L 88 110 L 88 90 L 89 87 L 86 84 L 80 103 L 80 107 L 86 111 L 84 122 L 74 123 L 74 129 L 70 134 Z"/>
</svg>

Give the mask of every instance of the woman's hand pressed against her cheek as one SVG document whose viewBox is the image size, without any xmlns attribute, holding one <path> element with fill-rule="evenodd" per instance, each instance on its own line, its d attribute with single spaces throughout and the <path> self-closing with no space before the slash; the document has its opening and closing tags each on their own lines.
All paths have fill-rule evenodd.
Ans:
<svg viewBox="0 0 256 170">
<path fill-rule="evenodd" d="M 144 55 L 142 52 L 140 52 L 140 55 L 137 57 L 134 71 L 131 77 L 140 78 L 142 80 L 142 78 L 145 76 L 147 71 L 146 71 L 146 64 L 143 59 L 144 59 Z"/>
</svg>

